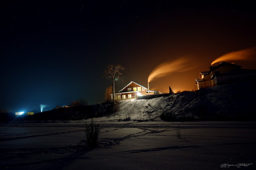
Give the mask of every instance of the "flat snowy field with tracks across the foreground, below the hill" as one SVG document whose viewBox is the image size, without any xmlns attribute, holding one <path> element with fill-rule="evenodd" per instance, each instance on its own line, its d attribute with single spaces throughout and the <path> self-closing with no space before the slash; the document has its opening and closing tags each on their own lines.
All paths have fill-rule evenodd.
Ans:
<svg viewBox="0 0 256 170">
<path fill-rule="evenodd" d="M 2 122 L 0 167 L 256 169 L 255 122 L 117 120 L 94 118 L 101 127 L 97 148 L 85 147 L 85 120 Z"/>
</svg>

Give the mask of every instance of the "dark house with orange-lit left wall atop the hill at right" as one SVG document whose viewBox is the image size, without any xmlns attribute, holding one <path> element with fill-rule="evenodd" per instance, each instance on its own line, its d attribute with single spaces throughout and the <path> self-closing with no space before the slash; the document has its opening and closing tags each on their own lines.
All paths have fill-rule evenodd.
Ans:
<svg viewBox="0 0 256 170">
<path fill-rule="evenodd" d="M 222 62 L 211 66 L 209 71 L 200 72 L 196 78 L 196 90 L 232 82 L 245 81 L 256 78 L 256 70 L 241 69 L 242 66 L 234 63 Z"/>
</svg>

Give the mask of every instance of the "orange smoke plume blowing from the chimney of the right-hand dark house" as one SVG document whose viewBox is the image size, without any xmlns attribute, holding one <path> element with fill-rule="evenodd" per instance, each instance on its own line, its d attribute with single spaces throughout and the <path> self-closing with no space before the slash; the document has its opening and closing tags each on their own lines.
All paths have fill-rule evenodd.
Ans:
<svg viewBox="0 0 256 170">
<path fill-rule="evenodd" d="M 220 56 L 219 58 L 214 60 L 212 64 L 218 63 L 218 62 L 234 61 L 234 60 L 252 60 L 253 59 L 252 56 L 255 54 L 256 54 L 255 48 L 248 48 L 240 51 L 234 51 L 234 52 L 227 53 Z"/>
</svg>

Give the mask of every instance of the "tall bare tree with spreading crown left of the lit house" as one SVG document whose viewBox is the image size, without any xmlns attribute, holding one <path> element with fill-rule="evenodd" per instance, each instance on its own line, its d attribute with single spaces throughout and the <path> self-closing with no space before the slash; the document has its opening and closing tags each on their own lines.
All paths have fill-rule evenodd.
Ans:
<svg viewBox="0 0 256 170">
<path fill-rule="evenodd" d="M 113 92 L 113 102 L 115 103 L 115 84 L 117 80 L 122 80 L 123 75 L 120 70 L 124 70 L 121 65 L 108 65 L 107 70 L 105 70 L 104 78 L 110 79 L 112 81 L 112 92 Z"/>
</svg>

